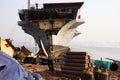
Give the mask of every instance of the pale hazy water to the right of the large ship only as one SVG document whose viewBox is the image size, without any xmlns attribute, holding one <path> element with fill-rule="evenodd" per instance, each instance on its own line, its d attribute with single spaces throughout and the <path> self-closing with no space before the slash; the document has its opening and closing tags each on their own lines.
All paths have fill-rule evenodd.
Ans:
<svg viewBox="0 0 120 80">
<path fill-rule="evenodd" d="M 95 60 L 100 60 L 100 58 L 103 60 L 106 60 L 106 58 L 120 60 L 120 45 L 112 45 L 72 44 L 70 48 L 71 51 L 85 51 Z"/>
</svg>

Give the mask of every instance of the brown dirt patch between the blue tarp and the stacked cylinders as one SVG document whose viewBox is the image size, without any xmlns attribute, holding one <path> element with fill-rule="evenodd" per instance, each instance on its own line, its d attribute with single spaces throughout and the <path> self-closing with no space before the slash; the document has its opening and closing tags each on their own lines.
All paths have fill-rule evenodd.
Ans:
<svg viewBox="0 0 120 80">
<path fill-rule="evenodd" d="M 30 72 L 39 73 L 45 80 L 66 80 L 57 67 L 54 72 L 51 72 L 47 65 L 22 64 L 22 66 Z"/>
</svg>

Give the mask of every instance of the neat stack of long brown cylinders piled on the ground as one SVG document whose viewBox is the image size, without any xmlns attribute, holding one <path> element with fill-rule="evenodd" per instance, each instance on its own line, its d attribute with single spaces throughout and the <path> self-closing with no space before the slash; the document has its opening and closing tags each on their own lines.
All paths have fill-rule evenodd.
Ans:
<svg viewBox="0 0 120 80">
<path fill-rule="evenodd" d="M 62 74 L 73 79 L 93 80 L 94 63 L 87 52 L 68 52 L 61 67 Z"/>
</svg>

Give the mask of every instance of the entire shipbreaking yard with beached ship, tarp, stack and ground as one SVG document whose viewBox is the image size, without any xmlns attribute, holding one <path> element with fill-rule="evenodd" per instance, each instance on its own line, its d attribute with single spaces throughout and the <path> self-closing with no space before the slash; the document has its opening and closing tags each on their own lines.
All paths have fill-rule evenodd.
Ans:
<svg viewBox="0 0 120 80">
<path fill-rule="evenodd" d="M 37 3 L 31 7 L 28 0 L 28 9 L 18 12 L 18 25 L 34 38 L 39 51 L 33 53 L 24 45 L 15 47 L 10 39 L 0 39 L 0 74 L 3 73 L 0 80 L 8 78 L 5 69 L 17 75 L 16 79 L 8 80 L 120 80 L 120 61 L 109 58 L 110 62 L 102 58 L 93 60 L 88 52 L 69 48 L 71 40 L 80 34 L 76 28 L 85 24 L 80 15 L 83 4 L 45 3 L 43 8 L 39 8 Z M 9 63 L 18 66 L 12 67 Z M 23 77 L 25 73 L 27 78 Z M 33 79 L 29 79 L 29 76 Z"/>
</svg>

